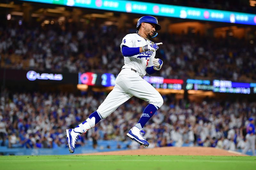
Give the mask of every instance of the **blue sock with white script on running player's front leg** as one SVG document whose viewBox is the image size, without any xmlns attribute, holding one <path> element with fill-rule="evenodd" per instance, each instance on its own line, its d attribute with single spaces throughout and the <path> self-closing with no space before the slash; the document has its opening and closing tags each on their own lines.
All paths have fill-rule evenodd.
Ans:
<svg viewBox="0 0 256 170">
<path fill-rule="evenodd" d="M 135 125 L 137 128 L 142 130 L 142 128 L 145 126 L 145 124 L 148 122 L 148 120 L 156 113 L 156 110 L 158 109 L 157 106 L 149 104 L 142 113 L 139 122 Z"/>
</svg>

